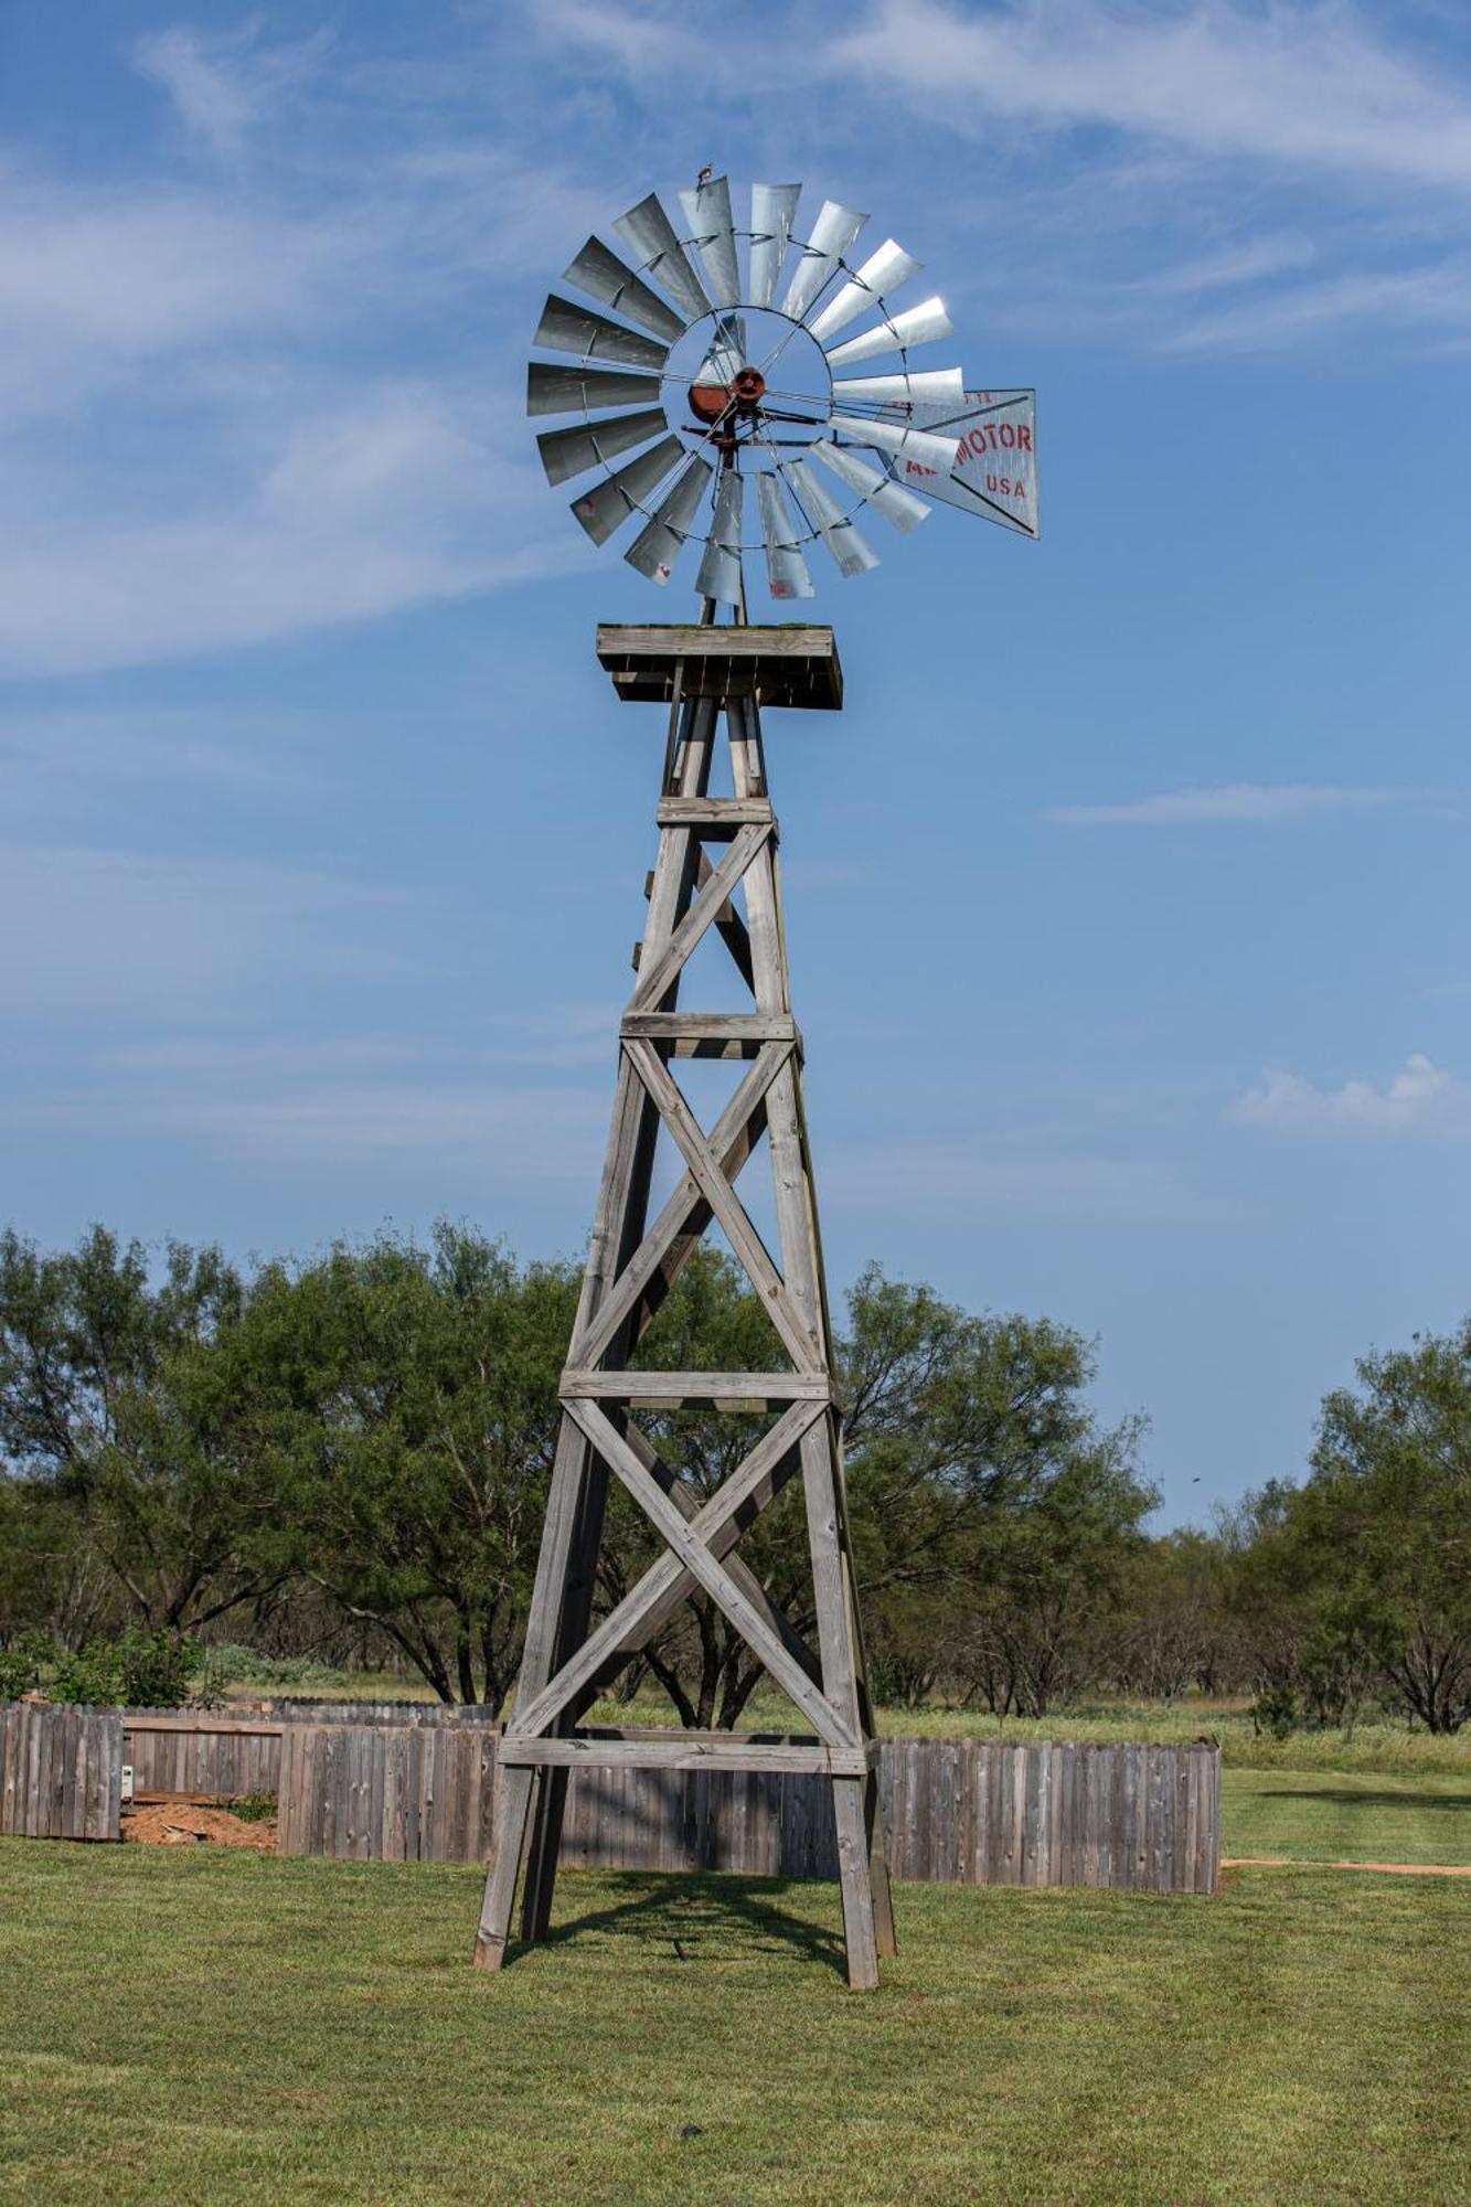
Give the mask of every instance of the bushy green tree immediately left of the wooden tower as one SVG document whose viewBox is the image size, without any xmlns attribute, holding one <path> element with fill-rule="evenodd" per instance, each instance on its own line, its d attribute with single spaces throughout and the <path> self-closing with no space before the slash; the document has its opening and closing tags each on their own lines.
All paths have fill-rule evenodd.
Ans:
<svg viewBox="0 0 1471 2207">
<path fill-rule="evenodd" d="M 574 1304 L 568 1267 L 442 1225 L 265 1267 L 214 1360 L 272 1501 L 258 1571 L 371 1620 L 444 1702 L 499 1706 L 521 1660 Z"/>
</svg>

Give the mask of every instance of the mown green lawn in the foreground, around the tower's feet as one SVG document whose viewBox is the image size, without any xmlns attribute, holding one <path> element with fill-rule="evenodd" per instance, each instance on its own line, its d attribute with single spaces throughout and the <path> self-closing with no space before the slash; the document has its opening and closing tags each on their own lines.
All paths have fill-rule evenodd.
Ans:
<svg viewBox="0 0 1471 2207">
<path fill-rule="evenodd" d="M 0 1841 L 0 2198 L 1471 2200 L 1469 1887 L 897 1902 L 872 1997 L 742 1878 L 568 1874 L 486 1977 L 475 1869 Z"/>
</svg>

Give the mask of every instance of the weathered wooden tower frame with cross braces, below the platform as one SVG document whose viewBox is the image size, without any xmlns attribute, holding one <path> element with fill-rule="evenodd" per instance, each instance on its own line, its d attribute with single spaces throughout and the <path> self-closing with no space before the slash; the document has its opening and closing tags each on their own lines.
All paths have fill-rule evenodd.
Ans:
<svg viewBox="0 0 1471 2207">
<path fill-rule="evenodd" d="M 610 633 L 616 631 L 601 631 L 601 638 Z M 561 1432 L 521 1677 L 501 1739 L 495 1847 L 475 1958 L 481 1966 L 499 1966 L 519 1878 L 521 1936 L 546 1936 L 570 1770 L 808 1770 L 833 1781 L 848 1980 L 875 1986 L 879 1955 L 895 1951 L 895 1925 L 802 1108 L 802 1037 L 791 1013 L 777 823 L 766 792 L 753 684 L 742 678 L 724 693 L 709 693 L 707 684 L 707 693 L 687 695 L 676 667 L 671 697 L 656 814 L 658 861 L 649 876 L 636 987 L 618 1026 L 607 1159 L 561 1377 Z M 722 722 L 731 797 L 709 790 Z M 707 845 L 720 856 L 711 859 Z M 685 967 L 711 927 L 751 991 L 751 1011 L 678 1009 Z M 700 1055 L 749 1059 L 709 1130 L 669 1070 L 674 1059 Z M 682 1176 L 649 1220 L 660 1137 L 671 1143 Z M 736 1181 L 762 1143 L 773 1176 L 775 1251 L 736 1194 Z M 771 1320 L 786 1357 L 782 1371 L 647 1371 L 634 1362 L 641 1337 L 711 1223 L 724 1234 Z M 747 1419 L 755 1410 L 771 1415 L 738 1470 L 707 1499 L 694 1494 L 638 1421 L 698 1401 Z M 742 1532 L 797 1472 L 817 1646 L 806 1644 L 736 1554 Z M 594 1624 L 592 1593 L 610 1479 L 643 1510 L 663 1552 Z M 696 1589 L 736 1627 L 813 1726 L 811 1735 L 773 1739 L 755 1732 L 581 1728 L 579 1719 L 596 1695 L 658 1638 Z"/>
</svg>

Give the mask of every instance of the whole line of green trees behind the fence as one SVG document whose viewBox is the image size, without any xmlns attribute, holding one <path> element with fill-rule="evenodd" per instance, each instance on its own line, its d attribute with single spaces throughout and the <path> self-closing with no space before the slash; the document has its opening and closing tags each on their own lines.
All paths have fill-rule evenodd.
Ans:
<svg viewBox="0 0 1471 2207">
<path fill-rule="evenodd" d="M 150 1260 L 102 1227 L 68 1251 L 0 1236 L 9 1691 L 27 1664 L 177 1675 L 170 1651 L 232 1640 L 391 1662 L 444 1702 L 499 1704 L 576 1291 L 574 1265 L 523 1265 L 451 1225 L 252 1271 L 183 1245 Z M 663 1371 L 773 1357 L 766 1313 L 716 1251 L 641 1346 Z M 1274 1728 L 1369 1706 L 1436 1732 L 1471 1717 L 1471 1326 L 1365 1357 L 1325 1399 L 1299 1483 L 1171 1534 L 1149 1532 L 1142 1419 L 1100 1421 L 1093 1348 L 1067 1326 L 972 1315 L 870 1267 L 837 1360 L 879 1702 L 1040 1717 L 1100 1691 L 1202 1688 L 1255 1695 Z M 702 1408 L 645 1426 L 696 1503 L 762 1428 Z M 614 1483 L 599 1607 L 654 1554 Z M 742 1554 L 808 1631 L 800 1481 Z M 696 1593 L 616 1691 L 729 1726 L 758 1682 Z"/>
</svg>

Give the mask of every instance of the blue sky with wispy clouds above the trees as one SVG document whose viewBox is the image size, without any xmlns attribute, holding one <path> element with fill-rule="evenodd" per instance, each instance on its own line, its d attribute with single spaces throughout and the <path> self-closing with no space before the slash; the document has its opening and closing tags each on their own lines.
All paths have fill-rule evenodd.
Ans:
<svg viewBox="0 0 1471 2207">
<path fill-rule="evenodd" d="M 2 0 L 0 1214 L 581 1247 L 680 605 L 523 360 L 705 163 L 1040 393 L 1043 543 L 771 717 L 828 1262 L 1096 1335 L 1204 1518 L 1471 1309 L 1460 7 Z"/>
</svg>

